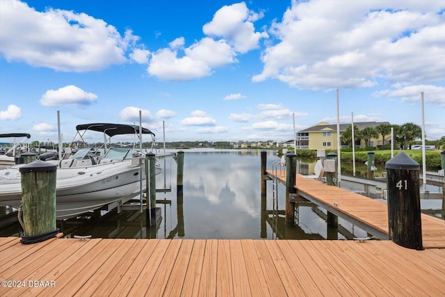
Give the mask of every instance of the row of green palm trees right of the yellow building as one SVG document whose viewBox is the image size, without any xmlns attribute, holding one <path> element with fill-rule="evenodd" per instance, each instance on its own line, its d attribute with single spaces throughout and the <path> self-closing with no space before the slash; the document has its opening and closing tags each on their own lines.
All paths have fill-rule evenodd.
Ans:
<svg viewBox="0 0 445 297">
<path fill-rule="evenodd" d="M 416 144 L 415 140 L 422 137 L 421 127 L 412 122 L 407 122 L 403 125 L 380 124 L 376 127 L 366 127 L 362 130 L 360 130 L 357 125 L 354 125 L 354 140 L 364 140 L 366 147 L 371 147 L 371 139 L 381 139 L 383 144 L 382 148 L 386 149 L 385 141 L 391 138 L 391 128 L 394 128 L 394 146 L 402 150 L 411 150 L 412 145 Z M 349 125 L 345 131 L 341 133 L 341 143 L 350 147 L 353 146 L 352 131 L 352 125 Z M 442 147 L 442 145 L 445 145 L 445 136 L 442 136 L 442 138 L 437 141 L 426 141 L 426 145 Z"/>
</svg>

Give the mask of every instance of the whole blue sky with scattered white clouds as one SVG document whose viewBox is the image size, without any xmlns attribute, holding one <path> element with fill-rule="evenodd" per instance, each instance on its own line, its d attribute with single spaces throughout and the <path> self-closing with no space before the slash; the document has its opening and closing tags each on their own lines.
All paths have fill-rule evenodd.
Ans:
<svg viewBox="0 0 445 297">
<path fill-rule="evenodd" d="M 139 122 L 286 141 L 318 122 L 445 136 L 445 1 L 0 1 L 0 133 Z M 87 141 L 101 141 L 88 134 Z"/>
</svg>

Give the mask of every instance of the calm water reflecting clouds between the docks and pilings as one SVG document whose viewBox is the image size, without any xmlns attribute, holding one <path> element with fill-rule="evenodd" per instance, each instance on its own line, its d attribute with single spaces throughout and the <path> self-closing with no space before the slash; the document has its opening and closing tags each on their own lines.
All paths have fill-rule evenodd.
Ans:
<svg viewBox="0 0 445 297">
<path fill-rule="evenodd" d="M 280 160 L 268 152 L 268 169 Z M 163 164 L 163 161 L 161 161 Z M 311 164 L 301 163 L 300 170 Z M 339 218 L 337 230 L 327 230 L 326 211 L 304 202 L 296 209 L 296 225 L 284 225 L 284 186 L 278 186 L 278 216 L 273 212 L 273 185 L 267 183 L 267 207 L 261 212 L 260 151 L 185 150 L 184 197 L 177 204 L 175 161 L 165 161 L 165 175 L 156 179 L 157 224 L 147 227 L 145 211 L 95 211 L 57 222 L 65 236 L 159 239 L 352 239 L 363 230 Z M 13 220 L 11 218 L 10 220 Z M 17 236 L 16 220 L 0 220 L 0 236 Z"/>
</svg>

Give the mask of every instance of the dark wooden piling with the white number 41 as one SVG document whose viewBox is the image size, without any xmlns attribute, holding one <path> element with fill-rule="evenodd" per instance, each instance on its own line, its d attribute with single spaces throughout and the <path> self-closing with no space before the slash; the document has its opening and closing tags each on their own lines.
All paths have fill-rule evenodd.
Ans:
<svg viewBox="0 0 445 297">
<path fill-rule="evenodd" d="M 423 250 L 419 163 L 401 152 L 385 168 L 389 239 L 405 248 Z"/>
</svg>

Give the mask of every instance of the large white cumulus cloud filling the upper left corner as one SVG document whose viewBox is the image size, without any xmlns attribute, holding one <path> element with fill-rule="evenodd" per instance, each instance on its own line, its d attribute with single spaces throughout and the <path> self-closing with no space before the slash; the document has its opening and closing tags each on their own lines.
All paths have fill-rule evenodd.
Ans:
<svg viewBox="0 0 445 297">
<path fill-rule="evenodd" d="M 122 36 L 114 26 L 85 13 L 52 8 L 38 12 L 20 1 L 0 1 L 0 19 L 0 51 L 8 61 L 58 71 L 88 72 L 126 63 L 127 50 L 139 40 L 131 31 Z"/>
</svg>

